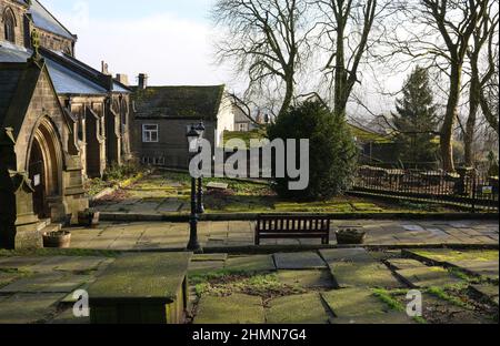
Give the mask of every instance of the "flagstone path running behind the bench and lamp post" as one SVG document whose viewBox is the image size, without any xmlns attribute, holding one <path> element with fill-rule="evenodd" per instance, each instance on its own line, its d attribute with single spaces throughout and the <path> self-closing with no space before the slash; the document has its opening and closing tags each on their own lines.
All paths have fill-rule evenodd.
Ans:
<svg viewBox="0 0 500 346">
<path fill-rule="evenodd" d="M 499 244 L 499 228 L 494 221 L 468 221 L 467 224 L 458 224 L 446 221 L 333 220 L 331 244 L 336 244 L 333 231 L 346 227 L 364 230 L 368 245 Z M 203 221 L 198 224 L 201 245 L 207 248 L 253 245 L 253 230 L 254 222 L 250 221 Z M 189 237 L 187 223 L 170 222 L 103 222 L 96 230 L 69 228 L 68 231 L 72 233 L 73 248 L 182 250 Z M 262 242 L 262 245 L 301 244 L 319 245 L 320 242 L 317 240 L 264 240 Z"/>
</svg>

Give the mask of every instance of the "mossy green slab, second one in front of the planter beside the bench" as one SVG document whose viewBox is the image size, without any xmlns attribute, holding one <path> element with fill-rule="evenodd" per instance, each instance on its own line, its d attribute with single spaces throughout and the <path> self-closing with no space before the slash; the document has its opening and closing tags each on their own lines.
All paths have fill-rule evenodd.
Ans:
<svg viewBox="0 0 500 346">
<path fill-rule="evenodd" d="M 337 262 L 330 264 L 339 287 L 399 288 L 402 284 L 380 263 Z"/>
</svg>

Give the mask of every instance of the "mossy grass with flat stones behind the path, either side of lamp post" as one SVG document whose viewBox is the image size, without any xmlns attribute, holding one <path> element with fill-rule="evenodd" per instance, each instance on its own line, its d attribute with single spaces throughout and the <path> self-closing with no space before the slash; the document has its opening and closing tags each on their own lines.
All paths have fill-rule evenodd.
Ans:
<svg viewBox="0 0 500 346">
<path fill-rule="evenodd" d="M 208 190 L 211 182 L 228 184 L 227 190 Z M 270 184 L 230 179 L 204 179 L 207 213 L 418 213 L 449 212 L 436 204 L 389 203 L 354 196 L 338 196 L 328 201 L 294 202 L 280 199 Z M 190 176 L 187 173 L 160 171 L 144 176 L 129 187 L 119 189 L 99 204 L 123 202 L 120 212 L 128 212 L 133 201 L 143 203 L 179 203 L 176 212 L 187 212 L 190 200 Z M 171 212 L 174 213 L 174 212 Z"/>
</svg>

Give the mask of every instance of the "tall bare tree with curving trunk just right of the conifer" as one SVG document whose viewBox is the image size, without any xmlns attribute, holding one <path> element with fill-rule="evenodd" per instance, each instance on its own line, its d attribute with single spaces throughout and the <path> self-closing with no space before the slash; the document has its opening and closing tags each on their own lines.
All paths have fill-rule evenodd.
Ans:
<svg viewBox="0 0 500 346">
<path fill-rule="evenodd" d="M 454 171 L 452 138 L 459 115 L 463 67 L 474 30 L 490 0 L 401 1 L 404 21 L 393 31 L 396 51 L 447 75 L 447 106 L 440 130 L 442 169 Z M 404 34 L 401 37 L 401 31 Z M 427 63 L 426 63 L 427 62 Z"/>
</svg>

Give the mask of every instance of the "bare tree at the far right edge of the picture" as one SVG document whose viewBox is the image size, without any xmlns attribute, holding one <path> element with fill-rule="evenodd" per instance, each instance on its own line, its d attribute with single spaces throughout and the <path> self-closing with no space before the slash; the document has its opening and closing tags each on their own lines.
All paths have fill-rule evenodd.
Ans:
<svg viewBox="0 0 500 346">
<path fill-rule="evenodd" d="M 484 89 L 494 75 L 496 57 L 493 53 L 494 38 L 498 34 L 498 0 L 490 1 L 488 10 L 483 12 L 478 27 L 472 34 L 472 43 L 467 55 L 470 60 L 470 90 L 469 90 L 469 116 L 463 132 L 466 165 L 473 165 L 473 142 L 477 132 L 478 113 L 481 108 L 481 98 L 484 98 Z M 498 44 L 498 42 L 497 42 Z M 480 58 L 484 47 L 487 48 L 487 63 L 482 72 L 480 69 Z M 491 112 L 490 106 L 486 106 L 486 113 Z M 490 115 L 490 118 L 492 118 Z M 493 118 L 494 119 L 494 118 Z M 494 122 L 494 120 L 493 120 Z M 497 123 L 498 132 L 498 123 Z"/>
</svg>

